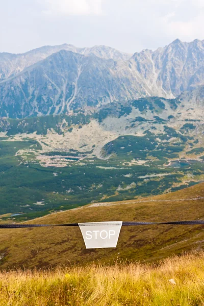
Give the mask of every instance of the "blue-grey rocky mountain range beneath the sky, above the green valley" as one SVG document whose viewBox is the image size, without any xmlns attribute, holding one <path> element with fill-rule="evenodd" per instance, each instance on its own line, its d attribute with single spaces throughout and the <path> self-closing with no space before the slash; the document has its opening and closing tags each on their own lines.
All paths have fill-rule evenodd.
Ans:
<svg viewBox="0 0 204 306">
<path fill-rule="evenodd" d="M 64 44 L 0 54 L 0 116 L 95 112 L 147 96 L 175 98 L 204 85 L 204 40 L 124 54 Z"/>
</svg>

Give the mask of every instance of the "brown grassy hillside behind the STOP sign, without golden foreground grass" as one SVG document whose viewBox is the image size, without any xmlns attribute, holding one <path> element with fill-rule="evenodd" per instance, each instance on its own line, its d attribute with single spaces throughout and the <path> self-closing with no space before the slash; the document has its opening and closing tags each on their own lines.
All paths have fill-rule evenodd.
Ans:
<svg viewBox="0 0 204 306">
<path fill-rule="evenodd" d="M 204 219 L 204 184 L 160 196 L 88 205 L 30 223 L 90 221 L 175 221 Z M 0 231 L 1 268 L 45 267 L 91 261 L 157 261 L 172 253 L 204 247 L 203 226 L 123 226 L 117 248 L 85 249 L 78 227 L 21 228 Z"/>
</svg>

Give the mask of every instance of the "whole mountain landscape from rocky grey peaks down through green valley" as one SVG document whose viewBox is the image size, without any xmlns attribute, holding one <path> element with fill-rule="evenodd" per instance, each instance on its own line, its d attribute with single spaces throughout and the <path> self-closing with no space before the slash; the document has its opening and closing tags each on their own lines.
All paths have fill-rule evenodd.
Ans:
<svg viewBox="0 0 204 306">
<path fill-rule="evenodd" d="M 0 214 L 27 220 L 204 181 L 204 41 L 0 54 Z M 37 214 L 37 215 L 36 215 Z"/>
</svg>

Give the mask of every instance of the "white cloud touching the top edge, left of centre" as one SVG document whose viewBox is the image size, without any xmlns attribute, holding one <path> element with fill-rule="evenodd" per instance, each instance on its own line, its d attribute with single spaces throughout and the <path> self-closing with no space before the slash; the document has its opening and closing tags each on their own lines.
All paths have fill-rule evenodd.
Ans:
<svg viewBox="0 0 204 306">
<path fill-rule="evenodd" d="M 100 15 L 101 0 L 45 0 L 46 14 Z"/>
</svg>

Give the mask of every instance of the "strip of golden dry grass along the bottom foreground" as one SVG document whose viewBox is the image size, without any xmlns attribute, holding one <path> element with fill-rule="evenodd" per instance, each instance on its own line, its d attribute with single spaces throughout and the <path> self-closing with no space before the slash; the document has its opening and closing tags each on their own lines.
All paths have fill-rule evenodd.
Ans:
<svg viewBox="0 0 204 306">
<path fill-rule="evenodd" d="M 204 305 L 204 252 L 171 257 L 158 266 L 117 261 L 5 271 L 0 291 L 1 306 Z"/>
</svg>

